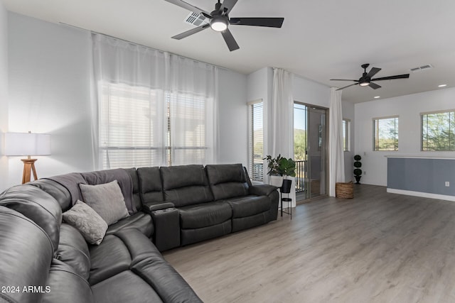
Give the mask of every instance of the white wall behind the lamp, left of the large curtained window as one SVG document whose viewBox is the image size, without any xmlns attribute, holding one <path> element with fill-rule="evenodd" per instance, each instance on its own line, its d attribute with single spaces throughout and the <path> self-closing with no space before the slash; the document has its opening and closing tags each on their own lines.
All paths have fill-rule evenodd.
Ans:
<svg viewBox="0 0 455 303">
<path fill-rule="evenodd" d="M 50 133 L 38 177 L 92 170 L 90 34 L 9 12 L 9 131 Z M 8 186 L 21 182 L 9 157 Z"/>
</svg>

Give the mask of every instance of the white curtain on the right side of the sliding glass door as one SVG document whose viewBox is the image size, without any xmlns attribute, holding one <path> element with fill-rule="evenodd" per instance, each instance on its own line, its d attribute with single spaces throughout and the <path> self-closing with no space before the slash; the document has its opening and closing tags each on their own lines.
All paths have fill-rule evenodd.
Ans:
<svg viewBox="0 0 455 303">
<path fill-rule="evenodd" d="M 328 194 L 335 197 L 336 182 L 344 182 L 344 155 L 343 155 L 343 113 L 341 106 L 341 90 L 336 87 L 330 89 L 330 121 L 328 131 L 328 159 L 329 178 Z"/>
</svg>

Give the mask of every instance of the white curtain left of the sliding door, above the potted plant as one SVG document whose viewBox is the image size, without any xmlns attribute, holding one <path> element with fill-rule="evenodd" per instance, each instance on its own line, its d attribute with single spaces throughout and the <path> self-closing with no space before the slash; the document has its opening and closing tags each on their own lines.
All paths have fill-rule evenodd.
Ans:
<svg viewBox="0 0 455 303">
<path fill-rule="evenodd" d="M 294 158 L 294 98 L 292 74 L 281 68 L 273 69 L 273 97 L 269 106 L 269 133 L 272 134 L 269 153 Z"/>
</svg>

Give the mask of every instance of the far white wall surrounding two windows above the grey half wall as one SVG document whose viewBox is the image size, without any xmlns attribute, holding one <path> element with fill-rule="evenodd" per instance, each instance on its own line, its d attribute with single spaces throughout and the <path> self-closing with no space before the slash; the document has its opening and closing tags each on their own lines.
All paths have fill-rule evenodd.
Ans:
<svg viewBox="0 0 455 303">
<path fill-rule="evenodd" d="M 442 156 L 455 152 L 422 152 L 420 113 L 455 109 L 455 88 L 355 104 L 355 153 L 362 156 L 365 184 L 387 185 L 385 155 Z M 398 151 L 373 151 L 373 118 L 399 116 Z M 366 173 L 365 173 L 366 172 Z"/>
</svg>

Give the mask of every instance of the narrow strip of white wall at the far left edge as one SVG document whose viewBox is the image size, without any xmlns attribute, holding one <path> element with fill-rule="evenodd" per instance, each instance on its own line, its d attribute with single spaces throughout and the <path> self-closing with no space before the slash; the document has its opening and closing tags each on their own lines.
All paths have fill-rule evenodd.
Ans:
<svg viewBox="0 0 455 303">
<path fill-rule="evenodd" d="M 3 153 L 3 133 L 8 131 L 8 13 L 0 0 L 0 192 L 7 187 L 8 158 Z"/>
</svg>

